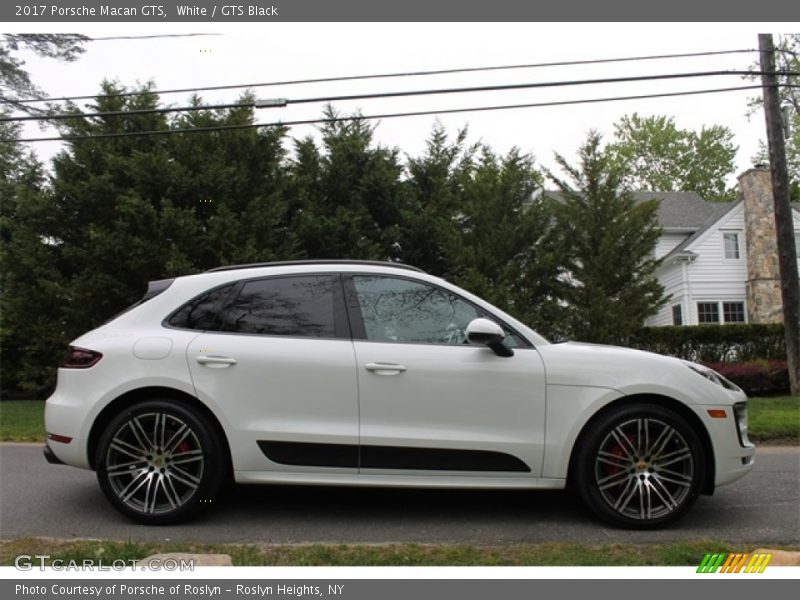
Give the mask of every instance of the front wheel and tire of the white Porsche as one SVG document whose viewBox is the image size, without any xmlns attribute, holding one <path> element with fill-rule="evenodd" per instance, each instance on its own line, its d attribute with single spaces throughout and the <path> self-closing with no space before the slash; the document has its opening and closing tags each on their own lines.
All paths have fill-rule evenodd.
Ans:
<svg viewBox="0 0 800 600">
<path fill-rule="evenodd" d="M 675 412 L 630 404 L 589 427 L 573 463 L 575 480 L 601 519 L 652 529 L 674 522 L 695 502 L 706 458 L 695 430 Z"/>
</svg>

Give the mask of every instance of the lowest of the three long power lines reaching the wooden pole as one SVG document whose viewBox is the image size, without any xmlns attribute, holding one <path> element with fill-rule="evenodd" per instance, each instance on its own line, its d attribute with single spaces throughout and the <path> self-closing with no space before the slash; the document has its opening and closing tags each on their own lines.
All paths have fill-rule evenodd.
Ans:
<svg viewBox="0 0 800 600">
<path fill-rule="evenodd" d="M 800 86 L 780 86 L 780 87 L 800 87 Z M 65 136 L 58 136 L 58 137 L 44 137 L 44 138 L 19 138 L 19 139 L 6 139 L 3 141 L 6 142 L 72 142 L 72 141 L 82 141 L 82 140 L 93 140 L 93 139 L 111 139 L 111 138 L 125 138 L 125 137 L 137 137 L 137 136 L 154 136 L 154 135 L 173 135 L 179 133 L 203 133 L 203 132 L 215 132 L 215 131 L 234 131 L 234 130 L 246 130 L 246 129 L 259 129 L 262 127 L 291 127 L 295 125 L 317 125 L 323 123 L 338 123 L 342 121 L 360 121 L 360 120 L 375 120 L 375 119 L 391 119 L 391 118 L 399 118 L 399 117 L 419 117 L 419 116 L 430 116 L 430 115 L 442 115 L 442 114 L 455 114 L 455 113 L 466 113 L 466 112 L 485 112 L 485 111 L 495 111 L 495 110 L 513 110 L 513 109 L 520 109 L 520 108 L 543 108 L 543 107 L 550 107 L 550 106 L 569 106 L 569 105 L 577 105 L 577 104 L 593 104 L 599 102 L 617 102 L 617 101 L 626 101 L 626 100 L 645 100 L 650 98 L 668 98 L 674 96 L 694 96 L 700 94 L 715 94 L 715 93 L 722 93 L 722 92 L 734 92 L 734 91 L 743 91 L 743 90 L 756 90 L 761 89 L 761 85 L 747 85 L 747 86 L 736 86 L 736 87 L 726 87 L 726 88 L 714 88 L 714 89 L 704 89 L 704 90 L 691 90 L 691 91 L 684 91 L 684 92 L 661 92 L 657 94 L 639 94 L 639 95 L 631 95 L 631 96 L 612 96 L 612 97 L 605 97 L 605 98 L 587 98 L 587 99 L 579 99 L 579 100 L 560 100 L 560 101 L 553 101 L 553 102 L 535 102 L 535 103 L 528 103 L 528 104 L 507 104 L 507 105 L 497 105 L 497 106 L 473 106 L 467 108 L 451 108 L 451 109 L 440 109 L 440 110 L 425 110 L 425 111 L 408 111 L 408 112 L 398 112 L 398 113 L 384 113 L 384 114 L 374 114 L 374 115 L 359 115 L 359 116 L 350 116 L 350 117 L 327 117 L 327 118 L 316 118 L 316 119 L 300 119 L 294 121 L 276 121 L 272 123 L 247 123 L 241 125 L 215 125 L 213 127 L 195 127 L 190 129 L 161 129 L 161 130 L 154 130 L 154 131 L 125 131 L 119 133 L 98 133 L 93 135 L 65 135 Z"/>
</svg>

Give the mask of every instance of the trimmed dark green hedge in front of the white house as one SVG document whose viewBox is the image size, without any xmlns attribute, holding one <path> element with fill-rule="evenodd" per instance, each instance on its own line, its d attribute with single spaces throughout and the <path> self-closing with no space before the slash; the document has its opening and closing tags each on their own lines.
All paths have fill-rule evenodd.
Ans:
<svg viewBox="0 0 800 600">
<path fill-rule="evenodd" d="M 781 323 L 644 327 L 629 345 L 702 363 L 786 360 Z"/>
</svg>

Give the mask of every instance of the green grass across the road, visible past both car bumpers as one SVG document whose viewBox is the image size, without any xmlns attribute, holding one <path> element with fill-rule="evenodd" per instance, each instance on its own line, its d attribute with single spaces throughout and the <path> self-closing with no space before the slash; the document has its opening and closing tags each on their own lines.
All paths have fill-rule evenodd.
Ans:
<svg viewBox="0 0 800 600">
<path fill-rule="evenodd" d="M 751 398 L 750 439 L 755 442 L 800 444 L 800 396 Z M 0 442 L 44 441 L 44 402 L 0 402 Z"/>
</svg>

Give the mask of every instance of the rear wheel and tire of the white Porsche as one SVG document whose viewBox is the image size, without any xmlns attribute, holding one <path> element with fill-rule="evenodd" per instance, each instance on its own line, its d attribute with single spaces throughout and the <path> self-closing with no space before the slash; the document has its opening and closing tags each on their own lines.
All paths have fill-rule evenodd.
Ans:
<svg viewBox="0 0 800 600">
<path fill-rule="evenodd" d="M 172 399 L 126 407 L 103 431 L 100 488 L 126 517 L 147 525 L 185 521 L 209 507 L 227 479 L 227 454 L 208 419 Z"/>
</svg>

